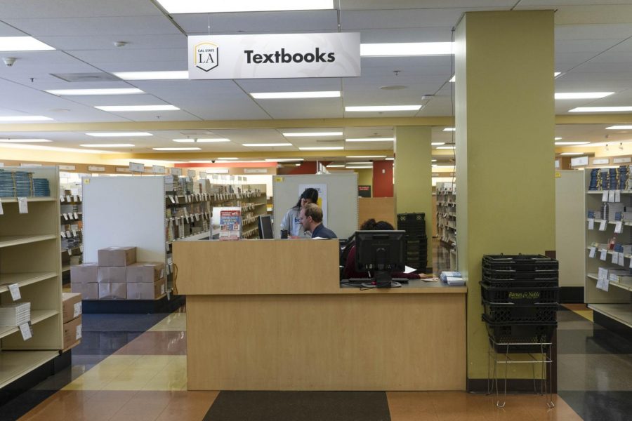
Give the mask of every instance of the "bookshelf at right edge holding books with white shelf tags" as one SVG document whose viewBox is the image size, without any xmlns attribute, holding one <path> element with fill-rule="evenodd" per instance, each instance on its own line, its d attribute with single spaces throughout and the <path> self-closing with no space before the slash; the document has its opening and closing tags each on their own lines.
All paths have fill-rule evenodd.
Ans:
<svg viewBox="0 0 632 421">
<path fill-rule="evenodd" d="M 602 171 L 607 171 L 608 178 L 610 178 L 610 168 Z M 618 171 L 617 168 L 617 173 Z M 632 282 L 610 278 L 613 275 L 613 269 L 621 271 L 621 273 L 630 274 L 631 272 L 632 253 L 630 247 L 624 245 L 632 243 L 632 220 L 627 220 L 628 215 L 617 215 L 617 212 L 622 207 L 629 209 L 632 206 L 632 190 L 613 190 L 614 198 L 612 198 L 609 194 L 610 190 L 606 189 L 604 197 L 603 187 L 609 187 L 610 183 L 608 186 L 602 187 L 601 182 L 599 182 L 598 186 L 595 186 L 597 190 L 590 190 L 590 170 L 585 171 L 585 178 L 586 212 L 594 218 L 586 220 L 584 302 L 595 312 L 595 321 L 603 317 L 606 321 L 617 321 L 627 328 L 632 328 Z M 617 174 L 618 179 L 619 175 Z M 593 186 L 594 184 L 593 180 Z M 613 187 L 618 186 L 619 184 Z M 614 199 L 614 201 L 610 201 L 610 199 Z M 607 214 L 605 210 L 607 210 Z M 588 217 L 588 215 L 586 216 Z M 620 224 L 621 232 L 617 233 L 617 220 L 620 219 L 624 220 Z M 612 241 L 615 245 L 613 248 L 610 247 Z M 594 257 L 591 257 L 593 250 Z M 619 250 L 621 250 L 621 258 L 619 258 Z M 622 265 L 619 265 L 620 263 Z M 598 276 L 600 268 L 609 269 L 607 290 L 598 288 L 602 283 Z"/>
</svg>

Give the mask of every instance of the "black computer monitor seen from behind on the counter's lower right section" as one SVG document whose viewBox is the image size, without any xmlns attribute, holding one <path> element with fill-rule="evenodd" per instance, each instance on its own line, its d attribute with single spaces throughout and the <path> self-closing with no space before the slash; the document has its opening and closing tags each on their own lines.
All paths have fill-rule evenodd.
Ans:
<svg viewBox="0 0 632 421">
<path fill-rule="evenodd" d="M 355 232 L 355 268 L 369 272 L 377 288 L 389 288 L 391 272 L 404 272 L 405 267 L 405 231 Z"/>
</svg>

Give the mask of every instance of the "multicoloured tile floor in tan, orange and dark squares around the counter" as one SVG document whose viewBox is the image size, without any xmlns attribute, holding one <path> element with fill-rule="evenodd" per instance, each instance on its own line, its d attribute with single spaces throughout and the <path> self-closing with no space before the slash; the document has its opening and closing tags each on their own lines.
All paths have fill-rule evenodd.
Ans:
<svg viewBox="0 0 632 421">
<path fill-rule="evenodd" d="M 437 269 L 446 256 L 435 251 Z M 536 395 L 496 408 L 494 396 L 466 392 L 187 392 L 182 310 L 86 314 L 72 366 L 0 406 L 0 420 L 631 420 L 632 342 L 595 325 L 584 305 L 561 307 L 558 321 L 548 410 Z"/>
</svg>

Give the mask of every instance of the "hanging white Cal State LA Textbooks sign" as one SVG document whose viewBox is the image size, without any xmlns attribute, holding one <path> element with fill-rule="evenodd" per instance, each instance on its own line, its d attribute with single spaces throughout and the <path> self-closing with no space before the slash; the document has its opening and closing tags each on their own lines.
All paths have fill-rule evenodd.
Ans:
<svg viewBox="0 0 632 421">
<path fill-rule="evenodd" d="M 189 36 L 189 79 L 360 76 L 360 33 Z"/>
</svg>

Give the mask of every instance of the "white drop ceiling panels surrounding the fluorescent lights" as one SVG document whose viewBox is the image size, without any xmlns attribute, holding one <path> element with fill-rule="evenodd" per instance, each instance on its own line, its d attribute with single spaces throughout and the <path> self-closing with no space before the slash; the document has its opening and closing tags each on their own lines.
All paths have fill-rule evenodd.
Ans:
<svg viewBox="0 0 632 421">
<path fill-rule="evenodd" d="M 284 129 L 239 128 L 200 130 L 143 130 L 146 138 L 91 138 L 86 131 L 6 131 L 0 138 L 46 138 L 46 145 L 79 147 L 86 143 L 129 142 L 124 152 L 154 153 L 152 147 L 177 147 L 174 138 L 216 137 L 231 142 L 197 145 L 202 152 L 257 152 L 243 143 L 291 142 L 291 147 L 265 149 L 296 152 L 298 147 L 336 146 L 346 151 L 392 150 L 392 142 L 353 143 L 344 138 L 393 137 L 393 126 L 357 127 L 356 117 L 452 116 L 454 83 L 452 57 L 362 58 L 362 76 L 328 79 L 248 79 L 224 81 L 83 81 L 68 82 L 53 74 L 150 70 L 185 70 L 187 35 L 360 32 L 363 43 L 445 42 L 467 11 L 554 9 L 555 91 L 613 91 L 598 100 L 555 102 L 558 115 L 573 107 L 632 105 L 632 5 L 628 1 L 587 0 L 340 0 L 333 11 L 213 13 L 166 15 L 152 0 L 3 0 L 0 36 L 34 36 L 55 51 L 0 52 L 17 60 L 13 67 L 0 64 L 0 116 L 34 114 L 53 123 L 199 122 L 288 119 L 347 119 L 345 126 L 320 128 L 342 131 L 337 138 L 284 138 Z M 122 47 L 114 41 L 124 41 Z M 399 72 L 395 72 L 395 70 Z M 405 86 L 399 90 L 384 86 Z M 45 90 L 62 88 L 140 88 L 140 95 L 58 97 Z M 317 100 L 254 100 L 249 93 L 270 91 L 341 91 L 341 98 Z M 433 95 L 422 100 L 423 95 Z M 105 112 L 99 105 L 175 105 L 169 112 Z M 419 112 L 349 113 L 349 105 L 421 104 Z M 606 131 L 606 124 L 559 125 L 556 136 L 565 141 L 632 141 L 628 133 Z M 112 126 L 114 127 L 114 126 Z M 194 128 L 195 127 L 195 128 Z M 433 142 L 452 142 L 444 126 L 433 128 Z M 41 129 L 41 130 L 40 130 Z M 104 129 L 105 130 L 105 129 Z M 141 130 L 139 128 L 139 130 Z M 300 131 L 298 128 L 295 131 Z M 129 131 L 129 130 L 125 130 Z M 313 128 L 311 131 L 315 131 Z M 111 149 L 115 150 L 115 149 Z M 116 149 L 120 151 L 120 149 Z M 169 156 L 169 152 L 162 153 Z M 449 154 L 437 152 L 439 159 Z M 331 158 L 331 154 L 329 154 Z M 308 156 L 307 159 L 314 159 Z M 199 159 L 199 157 L 198 157 Z"/>
</svg>

